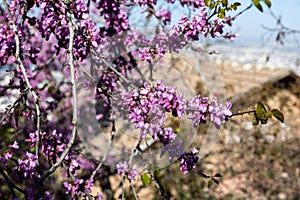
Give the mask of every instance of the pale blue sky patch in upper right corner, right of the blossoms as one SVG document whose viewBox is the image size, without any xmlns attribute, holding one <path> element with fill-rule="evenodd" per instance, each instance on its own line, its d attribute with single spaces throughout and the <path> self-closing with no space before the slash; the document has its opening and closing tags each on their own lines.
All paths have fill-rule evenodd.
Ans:
<svg viewBox="0 0 300 200">
<path fill-rule="evenodd" d="M 247 7 L 250 0 L 241 0 L 241 2 L 240 10 Z M 271 0 L 271 2 L 272 11 L 277 16 L 282 16 L 284 25 L 300 31 L 300 0 Z M 264 6 L 264 13 L 253 7 L 240 15 L 232 29 L 240 34 L 236 42 L 261 42 L 261 36 L 265 32 L 262 24 L 268 27 L 275 27 L 276 25 L 275 19 L 270 16 L 266 6 Z M 300 40 L 300 34 L 298 39 Z"/>
</svg>

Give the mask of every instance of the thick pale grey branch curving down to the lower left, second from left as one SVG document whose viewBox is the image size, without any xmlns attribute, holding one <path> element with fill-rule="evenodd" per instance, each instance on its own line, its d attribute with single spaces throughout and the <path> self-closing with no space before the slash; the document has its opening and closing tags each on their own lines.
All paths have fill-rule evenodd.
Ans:
<svg viewBox="0 0 300 200">
<path fill-rule="evenodd" d="M 71 84 L 72 84 L 72 97 L 73 97 L 73 119 L 72 119 L 72 135 L 71 138 L 67 144 L 67 147 L 61 154 L 59 160 L 52 165 L 52 167 L 40 178 L 39 184 L 42 183 L 42 181 L 47 178 L 50 174 L 52 174 L 58 166 L 62 163 L 62 161 L 65 159 L 67 154 L 69 153 L 71 147 L 74 144 L 76 133 L 77 133 L 77 90 L 76 90 L 76 81 L 75 81 L 75 67 L 74 67 L 74 57 L 73 57 L 73 41 L 74 41 L 74 30 L 72 26 L 72 22 L 70 19 L 70 15 L 68 14 L 68 27 L 70 32 L 70 41 L 69 41 L 69 66 L 71 69 Z"/>
</svg>

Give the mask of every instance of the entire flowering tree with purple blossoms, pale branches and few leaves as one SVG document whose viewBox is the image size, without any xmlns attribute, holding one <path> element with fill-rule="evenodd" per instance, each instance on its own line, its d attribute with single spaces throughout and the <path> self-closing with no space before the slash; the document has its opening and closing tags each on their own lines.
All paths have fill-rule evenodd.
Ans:
<svg viewBox="0 0 300 200">
<path fill-rule="evenodd" d="M 224 32 L 225 27 L 251 7 L 230 17 L 228 13 L 237 12 L 239 2 L 168 0 L 163 5 L 187 9 L 192 15 L 174 22 L 172 9 L 153 0 L 3 1 L 0 66 L 1 73 L 10 71 L 13 77 L 9 84 L 1 85 L 0 92 L 17 98 L 1 112 L 0 180 L 6 183 L 0 187 L 1 198 L 58 199 L 64 194 L 74 199 L 103 199 L 103 194 L 93 192 L 99 182 L 108 179 L 102 174 L 121 176 L 121 199 L 126 196 L 126 181 L 134 198 L 139 198 L 135 189 L 138 177 L 144 186 L 155 181 L 163 195 L 154 164 L 145 161 L 138 165 L 146 151 L 161 145 L 160 158 L 178 161 L 178 169 L 185 175 L 199 161 L 199 147 L 186 149 L 185 133 L 170 126 L 170 118 L 189 119 L 194 128 L 212 123 L 217 129 L 231 117 L 248 113 L 254 113 L 254 124 L 264 124 L 270 116 L 283 122 L 279 110 L 268 112 L 261 103 L 254 111 L 233 114 L 230 102 L 220 104 L 216 97 L 200 95 L 184 98 L 176 87 L 152 80 L 153 73 L 160 73 L 152 64 L 167 53 L 193 50 L 191 42 L 199 42 L 201 37 L 234 40 L 237 34 Z M 155 32 L 135 28 L 138 24 L 131 23 L 134 19 L 129 14 L 133 9 L 145 22 L 155 18 Z M 143 64 L 151 68 L 151 82 L 141 72 Z M 135 70 L 140 78 L 133 76 Z M 92 91 L 91 99 L 79 98 L 87 91 Z M 96 102 L 94 110 L 82 106 L 81 101 Z M 99 144 L 105 146 L 100 157 L 91 156 L 82 147 L 85 141 L 79 129 L 87 126 L 87 138 L 93 133 L 105 134 L 94 124 L 80 121 L 82 113 L 95 114 L 101 130 L 104 125 L 111 126 L 110 139 Z M 130 153 L 121 151 L 118 157 L 112 152 L 120 137 L 119 119 L 139 133 Z M 12 135 L 18 137 L 12 139 Z M 110 170 L 104 173 L 103 166 L 109 162 Z M 110 192 L 106 197 L 113 198 L 115 191 L 110 185 L 106 187 Z"/>
</svg>

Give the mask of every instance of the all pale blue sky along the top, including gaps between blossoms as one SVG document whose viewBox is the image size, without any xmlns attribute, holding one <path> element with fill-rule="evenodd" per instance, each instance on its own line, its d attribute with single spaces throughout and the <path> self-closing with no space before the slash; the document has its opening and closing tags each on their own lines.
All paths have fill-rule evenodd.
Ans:
<svg viewBox="0 0 300 200">
<path fill-rule="evenodd" d="M 248 7 L 251 0 L 229 0 L 229 2 L 241 2 L 242 4 L 237 11 L 228 13 L 231 16 L 234 16 L 237 12 Z M 300 31 L 300 0 L 271 0 L 271 2 L 271 9 L 274 14 L 282 16 L 282 21 L 286 26 Z M 172 11 L 173 22 L 177 22 L 183 14 L 188 15 L 187 10 L 185 9 L 186 7 L 182 8 L 178 4 L 179 1 L 177 1 L 177 7 L 172 7 L 170 4 L 166 5 L 163 0 L 158 1 L 158 7 L 161 6 Z M 233 26 L 229 29 L 233 33 L 240 34 L 240 37 L 236 38 L 235 44 L 244 44 L 248 42 L 261 43 L 261 37 L 265 32 L 262 28 L 262 24 L 268 27 L 276 26 L 276 20 L 270 16 L 268 7 L 263 2 L 262 5 L 264 8 L 263 13 L 253 6 L 250 10 L 246 11 L 240 15 L 237 20 L 235 20 Z M 133 13 L 131 20 L 137 22 L 141 27 L 143 27 L 144 21 L 142 19 L 144 19 L 145 16 L 141 17 L 138 10 Z M 155 19 L 152 18 L 152 20 L 154 23 L 157 23 Z M 272 38 L 273 40 L 275 40 L 274 37 L 275 36 Z M 300 34 L 298 35 L 298 38 L 300 41 Z"/>
</svg>

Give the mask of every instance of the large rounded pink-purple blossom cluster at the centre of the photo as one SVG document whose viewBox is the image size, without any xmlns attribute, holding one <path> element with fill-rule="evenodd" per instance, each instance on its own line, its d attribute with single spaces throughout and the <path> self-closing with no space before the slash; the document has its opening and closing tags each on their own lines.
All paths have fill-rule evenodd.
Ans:
<svg viewBox="0 0 300 200">
<path fill-rule="evenodd" d="M 157 81 L 155 86 L 145 83 L 137 90 L 133 90 L 131 98 L 127 101 L 129 106 L 129 120 L 140 128 L 142 138 L 150 134 L 154 139 L 170 134 L 164 129 L 166 123 L 165 112 L 175 117 L 182 117 L 185 104 L 182 95 L 177 95 L 176 88 L 165 86 Z M 174 136 L 172 136 L 174 137 Z"/>
</svg>

